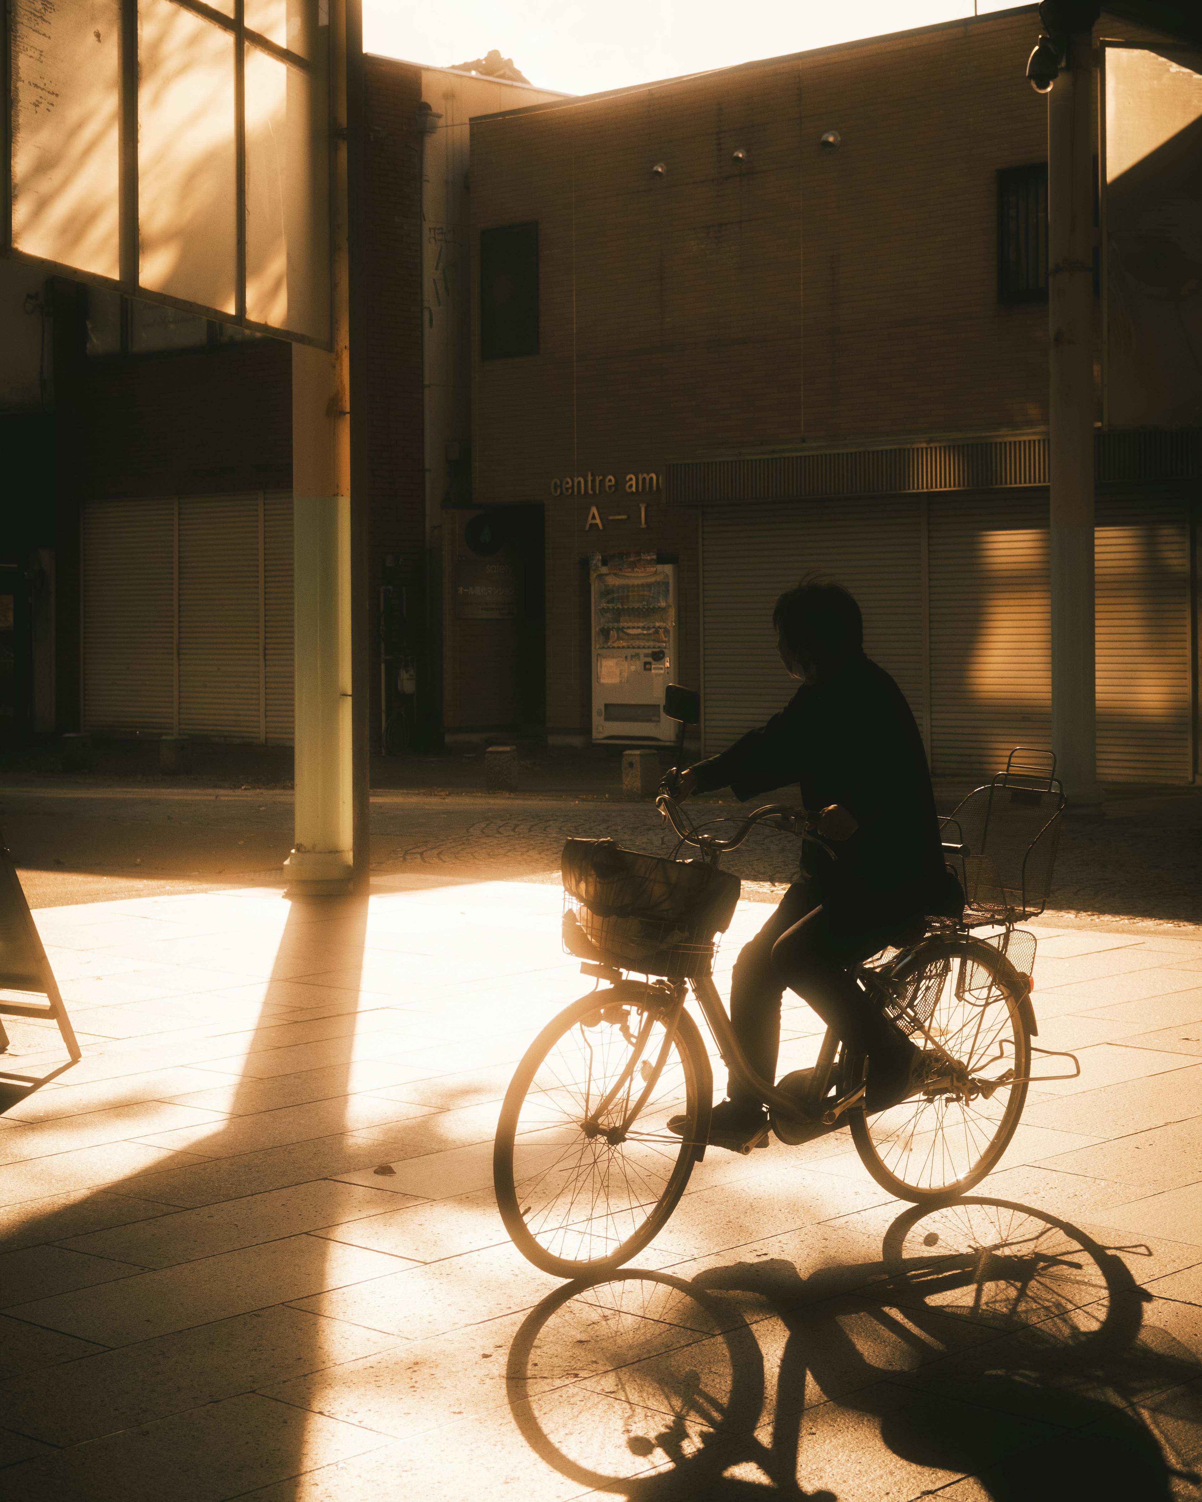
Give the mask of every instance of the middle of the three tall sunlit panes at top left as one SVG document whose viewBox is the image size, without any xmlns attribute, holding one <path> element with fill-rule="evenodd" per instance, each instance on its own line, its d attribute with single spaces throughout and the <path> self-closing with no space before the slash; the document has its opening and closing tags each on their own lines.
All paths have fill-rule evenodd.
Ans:
<svg viewBox="0 0 1202 1502">
<path fill-rule="evenodd" d="M 141 285 L 234 311 L 234 42 L 171 0 L 138 6 Z"/>
</svg>

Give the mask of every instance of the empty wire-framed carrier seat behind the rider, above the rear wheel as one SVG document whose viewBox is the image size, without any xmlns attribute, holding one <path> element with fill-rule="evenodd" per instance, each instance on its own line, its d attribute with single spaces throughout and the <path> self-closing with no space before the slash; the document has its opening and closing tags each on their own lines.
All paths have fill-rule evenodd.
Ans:
<svg viewBox="0 0 1202 1502">
<path fill-rule="evenodd" d="M 953 826 L 968 847 L 965 922 L 1016 922 L 1038 918 L 1047 906 L 1065 802 L 1055 771 L 1050 751 L 1016 746 L 1005 771 L 945 820 L 944 837 Z"/>
</svg>

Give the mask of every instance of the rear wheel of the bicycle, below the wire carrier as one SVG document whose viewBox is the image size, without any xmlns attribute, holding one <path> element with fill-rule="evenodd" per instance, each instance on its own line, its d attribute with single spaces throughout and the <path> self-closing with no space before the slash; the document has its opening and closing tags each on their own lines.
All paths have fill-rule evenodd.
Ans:
<svg viewBox="0 0 1202 1502">
<path fill-rule="evenodd" d="M 912 987 L 926 1027 L 912 1041 L 935 1054 L 935 1078 L 873 1116 L 852 1114 L 852 1142 L 876 1182 L 902 1200 L 963 1194 L 1001 1160 L 1014 1136 L 1031 1074 L 1031 1032 L 1022 982 L 1004 955 L 975 937 L 923 948 Z M 957 1068 L 945 1068 L 939 1044 Z"/>
</svg>

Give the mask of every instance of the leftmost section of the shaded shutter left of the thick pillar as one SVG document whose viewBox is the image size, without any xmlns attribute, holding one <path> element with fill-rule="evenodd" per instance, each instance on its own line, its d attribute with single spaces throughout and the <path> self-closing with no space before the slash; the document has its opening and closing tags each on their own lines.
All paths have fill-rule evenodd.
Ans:
<svg viewBox="0 0 1202 1502">
<path fill-rule="evenodd" d="M 83 508 L 83 727 L 174 728 L 174 500 Z"/>
</svg>

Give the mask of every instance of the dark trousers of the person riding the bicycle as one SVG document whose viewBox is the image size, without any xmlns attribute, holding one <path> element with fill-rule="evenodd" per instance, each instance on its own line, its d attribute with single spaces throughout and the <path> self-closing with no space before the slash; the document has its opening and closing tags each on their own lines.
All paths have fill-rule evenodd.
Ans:
<svg viewBox="0 0 1202 1502">
<path fill-rule="evenodd" d="M 730 1021 L 756 1074 L 775 1083 L 786 988 L 808 1002 L 852 1053 L 895 1054 L 905 1047 L 905 1035 L 846 970 L 883 949 L 897 928 L 895 913 L 832 922 L 808 882 L 789 888 L 763 928 L 739 951 L 730 984 Z M 760 1104 L 733 1075 L 729 1095 L 739 1104 Z"/>
</svg>

